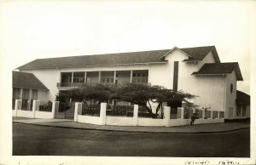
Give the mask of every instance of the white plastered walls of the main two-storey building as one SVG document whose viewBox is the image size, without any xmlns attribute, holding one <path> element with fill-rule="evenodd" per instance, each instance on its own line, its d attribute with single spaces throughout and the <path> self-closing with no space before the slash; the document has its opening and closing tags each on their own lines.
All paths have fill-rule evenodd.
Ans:
<svg viewBox="0 0 256 165">
<path fill-rule="evenodd" d="M 38 79 L 49 88 L 49 100 L 55 100 L 55 94 L 58 93 L 56 83 L 60 83 L 61 72 L 71 71 L 131 71 L 131 70 L 148 70 L 148 83 L 152 85 L 160 85 L 165 88 L 171 88 L 173 86 L 173 69 L 174 61 L 178 61 L 178 82 L 177 90 L 183 90 L 190 94 L 195 94 L 199 97 L 196 98 L 195 104 L 201 105 L 201 107 L 211 107 L 212 110 L 224 111 L 224 107 L 233 106 L 234 113 L 236 112 L 234 95 L 228 94 L 226 82 L 233 82 L 234 91 L 236 91 L 236 80 L 234 79 L 234 73 L 231 76 L 195 76 L 191 75 L 194 71 L 198 71 L 203 63 L 214 62 L 212 53 L 207 56 L 201 62 L 184 62 L 188 59 L 186 54 L 179 50 L 173 50 L 170 54 L 166 55 L 166 64 L 154 64 L 154 65 L 117 65 L 117 66 L 93 66 L 84 68 L 63 68 L 63 69 L 51 69 L 51 70 L 30 70 L 26 72 L 33 73 Z M 131 74 L 127 73 L 127 80 L 130 79 Z M 119 73 L 121 76 L 121 73 Z M 235 75 L 236 77 L 236 75 Z M 96 77 L 98 81 L 98 77 Z M 226 81 L 224 81 L 226 80 Z M 97 82 L 96 81 L 96 82 Z M 225 93 L 228 95 L 225 96 Z M 230 97 L 231 96 L 231 97 Z M 46 98 L 46 96 L 45 96 Z M 226 110 L 226 108 L 225 108 Z"/>
</svg>

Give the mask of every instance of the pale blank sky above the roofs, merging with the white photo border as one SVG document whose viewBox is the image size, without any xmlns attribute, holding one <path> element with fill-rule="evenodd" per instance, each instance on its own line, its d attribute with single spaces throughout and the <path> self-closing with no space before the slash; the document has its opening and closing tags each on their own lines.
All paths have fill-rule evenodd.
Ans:
<svg viewBox="0 0 256 165">
<path fill-rule="evenodd" d="M 215 45 L 222 62 L 239 62 L 244 81 L 238 89 L 250 94 L 252 15 L 249 1 L 6 2 L 1 67 L 13 70 L 38 58 Z"/>
</svg>

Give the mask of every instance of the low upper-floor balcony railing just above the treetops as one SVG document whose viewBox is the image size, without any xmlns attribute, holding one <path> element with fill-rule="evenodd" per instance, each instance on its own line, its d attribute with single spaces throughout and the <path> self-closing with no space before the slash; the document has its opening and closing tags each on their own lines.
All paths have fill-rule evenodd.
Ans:
<svg viewBox="0 0 256 165">
<path fill-rule="evenodd" d="M 57 83 L 58 88 L 79 88 L 79 87 L 84 87 L 84 86 L 90 86 L 96 83 Z M 118 85 L 121 83 L 101 83 L 103 85 Z M 145 84 L 145 85 L 151 85 L 151 83 L 140 83 L 140 84 Z"/>
</svg>

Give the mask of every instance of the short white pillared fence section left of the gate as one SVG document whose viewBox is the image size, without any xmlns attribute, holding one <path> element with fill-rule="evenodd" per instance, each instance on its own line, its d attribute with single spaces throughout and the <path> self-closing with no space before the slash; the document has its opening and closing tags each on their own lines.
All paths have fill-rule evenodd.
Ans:
<svg viewBox="0 0 256 165">
<path fill-rule="evenodd" d="M 55 106 L 58 101 L 53 101 L 51 105 L 40 100 L 33 100 L 32 110 L 21 110 L 22 100 L 15 100 L 15 110 L 13 117 L 28 117 L 28 118 L 55 118 Z"/>
</svg>

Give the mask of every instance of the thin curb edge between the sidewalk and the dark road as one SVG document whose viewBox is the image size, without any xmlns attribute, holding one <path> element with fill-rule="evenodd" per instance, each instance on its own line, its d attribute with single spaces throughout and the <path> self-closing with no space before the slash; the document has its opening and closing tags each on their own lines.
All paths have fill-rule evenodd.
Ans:
<svg viewBox="0 0 256 165">
<path fill-rule="evenodd" d="M 218 134 L 218 133 L 229 133 L 233 131 L 238 131 L 241 129 L 247 129 L 247 128 L 236 128 L 236 129 L 229 129 L 224 131 L 200 131 L 200 132 L 152 132 L 152 131 L 127 131 L 127 130 L 113 130 L 113 129 L 102 129 L 102 128 L 73 128 L 73 127 L 66 127 L 66 126 L 55 126 L 55 125 L 42 125 L 40 123 L 25 123 L 25 122 L 14 122 L 14 123 L 20 123 L 20 124 L 29 124 L 29 125 L 35 125 L 35 126 L 42 126 L 42 127 L 52 127 L 52 128 L 72 128 L 72 129 L 84 129 L 84 130 L 96 130 L 96 131 L 111 131 L 111 132 L 125 132 L 125 133 L 146 133 L 146 134 Z"/>
</svg>

